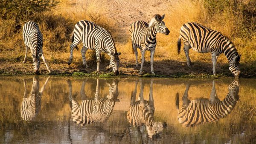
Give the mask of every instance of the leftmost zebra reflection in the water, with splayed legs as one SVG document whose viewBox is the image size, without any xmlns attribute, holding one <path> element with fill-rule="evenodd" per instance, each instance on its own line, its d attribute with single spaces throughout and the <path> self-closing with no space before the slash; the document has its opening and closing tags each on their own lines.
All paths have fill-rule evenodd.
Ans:
<svg viewBox="0 0 256 144">
<path fill-rule="evenodd" d="M 45 86 L 49 81 L 50 76 L 46 79 L 44 86 L 39 90 L 38 77 L 33 78 L 32 89 L 27 96 L 26 81 L 23 79 L 24 84 L 24 97 L 20 108 L 20 115 L 25 121 L 32 121 L 41 109 L 41 95 Z"/>
</svg>

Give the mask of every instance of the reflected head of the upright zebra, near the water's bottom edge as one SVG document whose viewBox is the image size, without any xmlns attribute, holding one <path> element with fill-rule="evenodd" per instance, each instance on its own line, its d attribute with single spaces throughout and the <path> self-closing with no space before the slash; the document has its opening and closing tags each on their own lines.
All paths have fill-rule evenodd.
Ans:
<svg viewBox="0 0 256 144">
<path fill-rule="evenodd" d="M 160 133 L 163 132 L 163 128 L 166 127 L 166 122 L 153 122 L 151 126 L 147 126 L 148 137 L 158 138 Z"/>
</svg>

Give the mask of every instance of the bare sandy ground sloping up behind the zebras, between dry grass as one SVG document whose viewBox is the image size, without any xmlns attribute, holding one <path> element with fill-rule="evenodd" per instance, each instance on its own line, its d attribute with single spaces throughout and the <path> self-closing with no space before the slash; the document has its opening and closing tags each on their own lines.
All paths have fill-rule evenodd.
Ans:
<svg viewBox="0 0 256 144">
<path fill-rule="evenodd" d="M 131 23 L 137 20 L 148 22 L 154 14 L 163 14 L 174 1 L 176 0 L 104 0 L 107 14 L 118 27 L 117 42 L 127 40 Z"/>
</svg>

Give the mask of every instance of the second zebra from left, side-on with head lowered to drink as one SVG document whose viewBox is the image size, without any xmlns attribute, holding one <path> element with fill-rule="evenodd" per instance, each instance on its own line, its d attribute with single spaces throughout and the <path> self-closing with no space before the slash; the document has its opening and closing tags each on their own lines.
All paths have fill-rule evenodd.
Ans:
<svg viewBox="0 0 256 144">
<path fill-rule="evenodd" d="M 97 57 L 97 72 L 99 71 L 100 53 L 105 52 L 110 55 L 110 64 L 107 69 L 113 69 L 115 75 L 119 75 L 118 66 L 120 52 L 116 51 L 116 46 L 111 34 L 104 28 L 96 25 L 88 20 L 81 20 L 76 23 L 73 34 L 71 36 L 70 45 L 70 58 L 68 65 L 72 63 L 73 49 L 78 49 L 77 45 L 82 41 L 83 48 L 81 49 L 82 60 L 84 66 L 88 67 L 85 60 L 85 53 L 87 49 L 93 49 L 96 51 Z"/>
</svg>

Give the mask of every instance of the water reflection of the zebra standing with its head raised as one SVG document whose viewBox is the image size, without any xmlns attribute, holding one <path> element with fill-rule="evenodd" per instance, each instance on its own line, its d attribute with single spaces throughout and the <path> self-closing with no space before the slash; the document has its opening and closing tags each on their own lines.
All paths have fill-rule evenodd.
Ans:
<svg viewBox="0 0 256 144">
<path fill-rule="evenodd" d="M 143 98 L 144 82 L 140 80 L 140 95 L 138 101 L 135 101 L 137 95 L 137 83 L 135 84 L 135 90 L 131 93 L 130 109 L 127 113 L 127 119 L 130 124 L 137 126 L 145 124 L 148 136 L 150 138 L 157 137 L 160 132 L 163 131 L 163 127 L 166 127 L 166 123 L 154 121 L 154 99 L 152 95 L 153 80 L 150 81 L 150 94 L 148 101 Z"/>
</svg>

